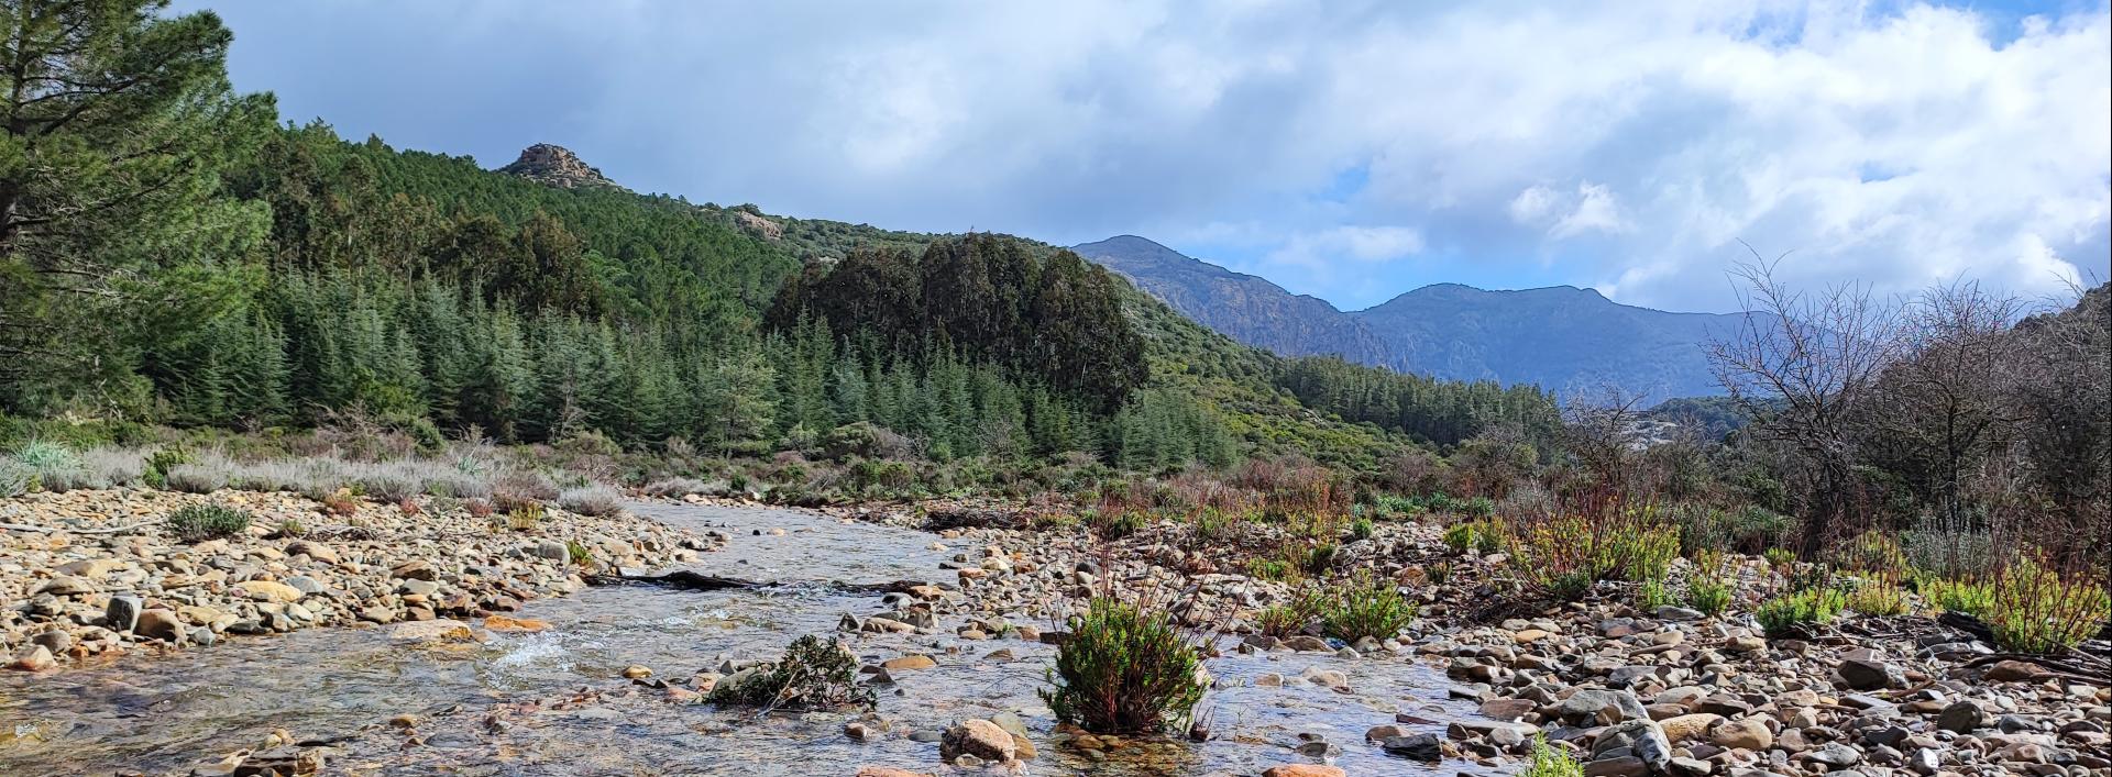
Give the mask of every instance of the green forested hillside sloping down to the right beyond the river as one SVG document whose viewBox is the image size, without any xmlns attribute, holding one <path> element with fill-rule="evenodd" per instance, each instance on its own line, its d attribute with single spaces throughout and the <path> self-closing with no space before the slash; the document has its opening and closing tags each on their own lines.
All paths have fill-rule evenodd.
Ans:
<svg viewBox="0 0 2112 777">
<path fill-rule="evenodd" d="M 152 91 L 13 106 L 0 412 L 748 454 L 868 422 L 942 460 L 1126 467 L 1369 467 L 1552 429 L 1538 391 L 1282 361 L 1043 243 L 634 194 L 555 146 L 501 173 L 279 125 L 228 87 L 218 19 L 148 30 L 190 57 Z"/>
</svg>

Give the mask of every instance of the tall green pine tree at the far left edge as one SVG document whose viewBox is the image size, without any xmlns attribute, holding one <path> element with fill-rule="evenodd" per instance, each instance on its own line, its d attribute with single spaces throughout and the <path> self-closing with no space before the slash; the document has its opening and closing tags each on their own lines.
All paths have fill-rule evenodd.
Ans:
<svg viewBox="0 0 2112 777">
<path fill-rule="evenodd" d="M 228 87 L 220 17 L 165 6 L 0 4 L 0 405 L 25 382 L 129 372 L 144 340 L 234 308 L 256 279 L 230 262 L 268 213 L 215 173 L 262 137 L 270 99 Z"/>
</svg>

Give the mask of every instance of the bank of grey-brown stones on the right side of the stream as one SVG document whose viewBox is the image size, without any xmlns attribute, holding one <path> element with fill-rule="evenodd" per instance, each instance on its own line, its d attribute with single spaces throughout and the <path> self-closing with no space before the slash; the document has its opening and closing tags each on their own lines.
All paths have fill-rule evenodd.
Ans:
<svg viewBox="0 0 2112 777">
<path fill-rule="evenodd" d="M 929 513 L 847 511 L 883 524 L 934 524 Z M 946 513 L 957 515 L 957 513 Z M 1077 528 L 1041 530 L 1020 517 L 940 517 L 940 543 L 963 551 L 946 566 L 959 593 L 898 598 L 860 629 L 925 627 L 923 610 L 963 617 L 959 636 L 1060 619 L 1098 591 L 1170 591 L 1195 625 L 1250 631 L 1261 606 L 1290 587 L 1238 574 L 1250 547 L 1280 536 L 1214 536 L 1159 524 L 1107 543 Z M 965 526 L 963 526 L 965 524 Z M 980 524 L 980 526 L 976 526 Z M 1396 640 L 1343 646 L 1318 636 L 1248 636 L 1242 652 L 1337 652 L 1426 661 L 1478 703 L 1445 737 L 1413 737 L 1373 720 L 1369 745 L 1413 760 L 1512 771 L 1535 737 L 1569 750 L 1588 777 L 1643 775 L 2112 775 L 2112 678 L 2099 657 L 2004 657 L 1973 633 L 1928 617 L 1852 619 L 1808 640 L 1768 640 L 1749 606 L 1780 585 L 1766 562 L 1736 568 L 1736 606 L 1704 617 L 1679 606 L 1641 612 L 1624 591 L 1535 606 L 1495 595 L 1500 555 L 1457 553 L 1434 526 L 1385 524 L 1341 547 L 1337 566 L 1390 574 L 1423 602 Z M 851 627 L 851 623 L 847 623 Z M 2101 648 L 2101 646 L 2099 646 Z M 1259 682 L 1341 684 L 1339 674 Z M 1350 693 L 1354 688 L 1339 688 Z M 1067 741 L 1096 743 L 1094 737 Z M 1339 747 L 1299 747 L 1284 775 L 1339 775 Z M 1299 769 L 1290 769 L 1299 766 Z"/>
</svg>

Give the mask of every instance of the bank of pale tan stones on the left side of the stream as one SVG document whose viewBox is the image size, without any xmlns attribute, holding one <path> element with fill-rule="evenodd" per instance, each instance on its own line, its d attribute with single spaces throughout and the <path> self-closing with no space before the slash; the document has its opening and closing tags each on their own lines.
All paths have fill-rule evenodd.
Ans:
<svg viewBox="0 0 2112 777">
<path fill-rule="evenodd" d="M 184 543 L 163 522 L 186 505 L 251 522 Z M 458 500 L 258 492 L 40 492 L 0 500 L 0 652 L 19 671 L 308 627 L 475 623 L 574 591 L 593 570 L 680 564 L 720 543 L 627 513 L 524 519 Z"/>
</svg>

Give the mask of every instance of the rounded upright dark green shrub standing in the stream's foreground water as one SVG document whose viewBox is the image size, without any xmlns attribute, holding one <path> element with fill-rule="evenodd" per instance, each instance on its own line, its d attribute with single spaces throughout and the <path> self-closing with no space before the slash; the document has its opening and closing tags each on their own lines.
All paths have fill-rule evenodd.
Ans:
<svg viewBox="0 0 2112 777">
<path fill-rule="evenodd" d="M 1041 701 L 1092 733 L 1183 728 L 1208 690 L 1202 657 L 1166 612 L 1098 598 L 1069 623 Z"/>
</svg>

